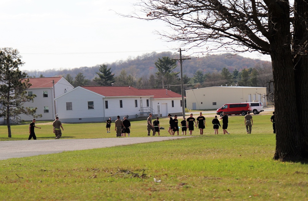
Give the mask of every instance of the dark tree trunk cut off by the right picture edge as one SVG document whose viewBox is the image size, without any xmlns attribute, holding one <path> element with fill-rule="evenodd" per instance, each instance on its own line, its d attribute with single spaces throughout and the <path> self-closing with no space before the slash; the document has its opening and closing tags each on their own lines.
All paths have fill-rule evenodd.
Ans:
<svg viewBox="0 0 308 201">
<path fill-rule="evenodd" d="M 308 3 L 305 0 L 294 1 L 294 74 L 298 120 L 301 126 L 302 156 L 308 158 Z"/>
</svg>

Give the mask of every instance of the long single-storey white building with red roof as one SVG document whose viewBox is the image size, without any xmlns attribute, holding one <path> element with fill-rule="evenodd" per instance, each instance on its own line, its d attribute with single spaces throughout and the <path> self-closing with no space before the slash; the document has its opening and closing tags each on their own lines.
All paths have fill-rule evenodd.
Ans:
<svg viewBox="0 0 308 201">
<path fill-rule="evenodd" d="M 129 118 L 182 114 L 180 94 L 166 89 L 132 86 L 78 86 L 55 98 L 61 122 L 103 122 L 119 115 Z"/>
</svg>

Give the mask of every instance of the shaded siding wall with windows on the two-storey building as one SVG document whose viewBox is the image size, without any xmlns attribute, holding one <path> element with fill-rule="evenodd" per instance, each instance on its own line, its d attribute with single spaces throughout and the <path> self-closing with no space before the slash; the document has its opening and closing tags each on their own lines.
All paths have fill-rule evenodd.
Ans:
<svg viewBox="0 0 308 201">
<path fill-rule="evenodd" d="M 32 91 L 33 94 L 36 94 L 33 103 L 26 102 L 23 104 L 24 107 L 37 107 L 36 114 L 43 115 L 42 118 L 36 118 L 37 120 L 52 120 L 55 118 L 54 114 L 54 101 L 53 101 L 53 90 L 52 88 L 33 88 L 28 89 L 27 91 Z M 43 91 L 47 91 L 48 97 L 43 97 Z M 49 112 L 44 113 L 44 106 L 48 106 Z M 32 120 L 32 116 L 27 116 L 24 114 L 19 115 L 22 120 Z"/>
</svg>

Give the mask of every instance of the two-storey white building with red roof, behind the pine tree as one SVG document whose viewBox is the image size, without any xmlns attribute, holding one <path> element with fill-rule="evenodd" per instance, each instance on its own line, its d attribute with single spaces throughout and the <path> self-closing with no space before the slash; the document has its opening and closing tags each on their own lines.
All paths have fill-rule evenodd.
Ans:
<svg viewBox="0 0 308 201">
<path fill-rule="evenodd" d="M 53 120 L 57 111 L 55 111 L 54 98 L 72 90 L 74 87 L 63 77 L 48 77 L 48 78 L 29 78 L 29 82 L 32 84 L 27 89 L 28 96 L 33 94 L 36 97 L 32 102 L 26 102 L 24 107 L 37 107 L 36 114 L 41 114 L 42 118 L 36 118 L 37 120 Z M 32 116 L 20 114 L 18 119 L 25 121 L 32 120 Z"/>
</svg>

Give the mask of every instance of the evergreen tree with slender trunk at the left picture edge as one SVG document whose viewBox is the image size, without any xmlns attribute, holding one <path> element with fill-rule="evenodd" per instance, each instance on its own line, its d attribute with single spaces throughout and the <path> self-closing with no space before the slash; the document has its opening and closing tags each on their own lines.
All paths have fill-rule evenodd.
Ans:
<svg viewBox="0 0 308 201">
<path fill-rule="evenodd" d="M 12 137 L 11 117 L 15 118 L 19 114 L 35 116 L 37 109 L 23 107 L 23 103 L 33 102 L 36 95 L 27 95 L 26 90 L 31 84 L 27 74 L 19 70 L 19 66 L 24 64 L 20 58 L 18 50 L 0 48 L 0 117 L 6 118 L 9 138 Z"/>
</svg>

